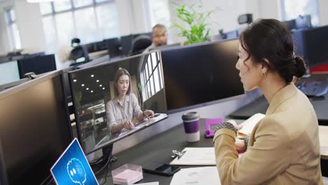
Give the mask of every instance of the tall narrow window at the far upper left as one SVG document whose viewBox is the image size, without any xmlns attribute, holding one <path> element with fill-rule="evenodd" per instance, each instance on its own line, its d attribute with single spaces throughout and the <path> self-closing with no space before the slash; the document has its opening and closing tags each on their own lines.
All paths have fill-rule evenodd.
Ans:
<svg viewBox="0 0 328 185">
<path fill-rule="evenodd" d="M 22 46 L 20 44 L 20 32 L 16 23 L 15 11 L 11 8 L 6 10 L 5 14 L 11 49 L 20 49 Z"/>
</svg>

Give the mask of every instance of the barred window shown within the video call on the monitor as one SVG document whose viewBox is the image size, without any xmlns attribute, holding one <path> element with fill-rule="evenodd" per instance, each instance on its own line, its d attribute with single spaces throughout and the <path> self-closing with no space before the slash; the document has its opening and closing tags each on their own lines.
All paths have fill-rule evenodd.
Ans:
<svg viewBox="0 0 328 185">
<path fill-rule="evenodd" d="M 158 53 L 151 53 L 142 68 L 142 81 L 146 86 L 146 92 L 143 93 L 144 97 L 142 98 L 144 101 L 163 89 L 162 69 L 159 62 Z"/>
</svg>

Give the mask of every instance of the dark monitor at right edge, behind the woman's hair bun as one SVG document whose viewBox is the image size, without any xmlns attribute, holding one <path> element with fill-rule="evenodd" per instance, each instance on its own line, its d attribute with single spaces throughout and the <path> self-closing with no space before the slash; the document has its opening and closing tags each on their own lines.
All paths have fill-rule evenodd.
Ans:
<svg viewBox="0 0 328 185">
<path fill-rule="evenodd" d="M 308 61 L 310 67 L 328 63 L 328 25 L 293 32 L 296 55 Z"/>
</svg>

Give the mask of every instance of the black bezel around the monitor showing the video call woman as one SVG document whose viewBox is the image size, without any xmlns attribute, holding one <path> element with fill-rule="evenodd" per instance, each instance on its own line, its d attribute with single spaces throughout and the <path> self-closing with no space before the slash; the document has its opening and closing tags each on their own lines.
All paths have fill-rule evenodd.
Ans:
<svg viewBox="0 0 328 185">
<path fill-rule="evenodd" d="M 130 57 L 124 57 L 124 58 L 121 58 L 121 59 L 118 59 L 118 60 L 114 60 L 114 61 L 109 61 L 109 62 L 104 62 L 102 64 L 97 64 L 95 66 L 92 66 L 92 67 L 86 67 L 86 68 L 83 68 L 83 69 L 76 69 L 74 71 L 69 71 L 68 74 L 69 74 L 69 87 L 71 89 L 71 99 L 72 99 L 72 102 L 73 102 L 73 107 L 74 107 L 74 116 L 75 116 L 75 121 L 76 121 L 76 131 L 77 131 L 77 137 L 78 137 L 78 141 L 80 143 L 83 143 L 82 142 L 82 138 L 81 138 L 81 129 L 80 129 L 80 123 L 79 123 L 79 120 L 78 120 L 78 111 L 77 111 L 77 107 L 76 107 L 76 102 L 75 102 L 75 93 L 74 93 L 74 90 L 73 90 L 73 78 L 72 78 L 72 74 L 76 73 L 76 72 L 79 72 L 79 71 L 87 71 L 89 69 L 94 69 L 94 68 L 97 68 L 97 67 L 102 67 L 102 66 L 107 66 L 109 64 L 115 64 L 115 63 L 118 63 L 118 62 L 122 62 L 122 61 L 125 61 L 125 60 L 130 60 L 132 58 L 135 58 L 135 57 L 142 57 L 143 55 L 150 55 L 151 53 L 156 53 L 158 52 L 159 55 L 160 55 L 160 69 L 162 70 L 162 74 L 164 75 L 163 73 L 163 63 L 162 63 L 162 56 L 161 56 L 161 53 L 160 53 L 160 50 L 153 50 L 149 53 L 142 53 L 142 54 L 139 54 L 139 55 L 133 55 L 133 56 L 130 56 Z M 163 78 L 163 93 L 164 93 L 164 103 L 165 103 L 165 107 L 168 108 L 168 105 L 167 105 L 167 102 L 166 102 L 166 94 L 165 94 L 165 79 Z M 168 110 L 168 109 L 167 109 Z M 168 113 L 167 113 L 168 114 Z M 163 121 L 165 120 L 166 118 L 168 118 L 168 116 L 166 116 L 165 118 L 159 120 L 159 121 L 155 121 L 154 123 L 151 123 L 150 125 L 145 125 L 144 127 L 142 128 L 139 128 L 137 130 L 134 130 L 132 132 L 129 132 L 128 135 L 123 135 L 122 137 L 119 137 L 118 139 L 113 139 L 111 142 L 107 142 L 105 144 L 100 144 L 99 147 L 95 148 L 95 149 L 92 149 L 91 151 L 85 151 L 85 148 L 82 144 L 82 149 L 83 149 L 83 152 L 86 153 L 86 155 L 90 154 L 90 153 L 93 153 L 97 150 L 100 150 L 106 146 L 110 146 L 111 144 L 114 144 L 115 142 L 118 142 L 118 141 L 121 141 L 122 139 L 124 139 L 125 137 L 129 137 L 130 135 L 133 135 L 135 134 L 136 132 L 140 132 L 141 130 L 144 130 L 145 128 L 148 128 L 149 126 L 151 125 L 155 125 L 156 123 L 160 122 L 160 121 Z"/>
</svg>

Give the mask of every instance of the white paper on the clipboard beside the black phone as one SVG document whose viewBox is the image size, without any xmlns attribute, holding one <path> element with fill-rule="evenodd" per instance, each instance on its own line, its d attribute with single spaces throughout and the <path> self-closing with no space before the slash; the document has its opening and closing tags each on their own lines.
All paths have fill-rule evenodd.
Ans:
<svg viewBox="0 0 328 185">
<path fill-rule="evenodd" d="M 175 158 L 170 165 L 216 165 L 214 147 L 186 147 L 181 158 Z"/>
</svg>

